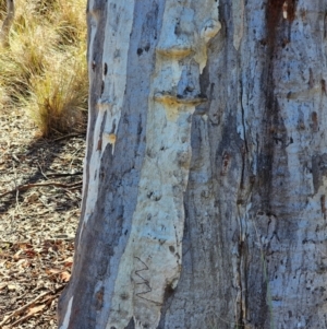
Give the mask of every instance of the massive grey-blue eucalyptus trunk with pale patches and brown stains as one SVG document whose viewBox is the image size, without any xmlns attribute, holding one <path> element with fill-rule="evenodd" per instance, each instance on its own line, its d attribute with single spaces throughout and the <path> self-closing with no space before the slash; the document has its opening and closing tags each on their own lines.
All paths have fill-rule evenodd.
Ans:
<svg viewBox="0 0 327 329">
<path fill-rule="evenodd" d="M 327 0 L 89 0 L 61 329 L 327 328 Z"/>
</svg>

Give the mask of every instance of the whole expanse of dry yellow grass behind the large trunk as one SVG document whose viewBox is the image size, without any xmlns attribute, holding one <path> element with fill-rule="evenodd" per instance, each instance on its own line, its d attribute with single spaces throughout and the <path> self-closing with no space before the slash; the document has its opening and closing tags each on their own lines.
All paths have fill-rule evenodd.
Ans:
<svg viewBox="0 0 327 329">
<path fill-rule="evenodd" d="M 0 49 L 0 104 L 22 107 L 47 137 L 72 131 L 87 108 L 85 7 L 16 0 L 10 47 Z M 2 21 L 4 9 L 0 0 Z"/>
</svg>

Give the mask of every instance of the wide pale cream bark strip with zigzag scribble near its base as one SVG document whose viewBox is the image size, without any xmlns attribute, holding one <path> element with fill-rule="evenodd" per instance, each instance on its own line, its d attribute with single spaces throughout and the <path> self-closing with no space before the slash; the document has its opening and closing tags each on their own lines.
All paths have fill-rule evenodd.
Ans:
<svg viewBox="0 0 327 329">
<path fill-rule="evenodd" d="M 191 125 L 201 95 L 207 45 L 219 32 L 218 3 L 192 8 L 166 1 L 149 94 L 144 160 L 132 232 L 119 265 L 107 328 L 157 328 L 165 292 L 182 265 L 183 195 L 191 162 Z M 122 299 L 121 294 L 129 295 Z M 122 317 L 121 314 L 124 314 Z"/>
</svg>

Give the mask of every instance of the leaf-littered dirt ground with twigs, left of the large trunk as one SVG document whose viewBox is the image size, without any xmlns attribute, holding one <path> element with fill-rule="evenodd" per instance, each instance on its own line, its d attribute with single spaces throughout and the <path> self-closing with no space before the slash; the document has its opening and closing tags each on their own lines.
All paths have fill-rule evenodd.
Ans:
<svg viewBox="0 0 327 329">
<path fill-rule="evenodd" d="M 57 328 L 80 216 L 85 126 L 52 140 L 0 108 L 0 328 Z"/>
</svg>

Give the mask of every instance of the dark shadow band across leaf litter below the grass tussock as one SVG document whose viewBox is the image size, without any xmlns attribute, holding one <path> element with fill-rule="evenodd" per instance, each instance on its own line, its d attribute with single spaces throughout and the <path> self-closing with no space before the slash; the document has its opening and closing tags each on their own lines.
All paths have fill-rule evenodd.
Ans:
<svg viewBox="0 0 327 329">
<path fill-rule="evenodd" d="M 1 176 L 8 184 L 0 187 L 0 214 L 7 213 L 17 202 L 24 202 L 25 196 L 35 189 L 56 189 L 59 192 L 55 211 L 66 211 L 76 207 L 80 200 L 69 202 L 62 198 L 64 186 L 71 186 L 82 180 L 85 134 L 72 133 L 60 138 L 36 139 L 26 148 L 14 145 L 4 157 L 5 169 Z M 62 184 L 58 187 L 55 184 Z M 32 187 L 33 184 L 49 184 Z M 21 189 L 21 187 L 26 189 Z M 31 186 L 31 187 L 28 187 Z M 77 185 L 74 189 L 81 189 Z M 69 189 L 68 189 L 69 190 Z M 7 191 L 12 191 L 2 196 Z"/>
</svg>

